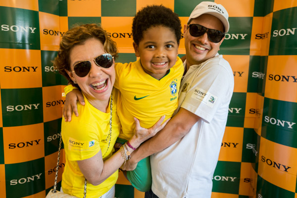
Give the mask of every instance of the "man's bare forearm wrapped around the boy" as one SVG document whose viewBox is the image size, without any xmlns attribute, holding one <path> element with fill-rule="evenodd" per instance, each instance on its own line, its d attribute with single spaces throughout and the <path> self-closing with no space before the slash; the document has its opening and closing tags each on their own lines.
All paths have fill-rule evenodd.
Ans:
<svg viewBox="0 0 297 198">
<path fill-rule="evenodd" d="M 180 108 L 178 113 L 171 118 L 164 129 L 143 143 L 132 153 L 131 159 L 127 161 L 122 169 L 134 170 L 141 159 L 171 146 L 183 138 L 199 119 L 201 118 L 194 113 Z"/>
</svg>

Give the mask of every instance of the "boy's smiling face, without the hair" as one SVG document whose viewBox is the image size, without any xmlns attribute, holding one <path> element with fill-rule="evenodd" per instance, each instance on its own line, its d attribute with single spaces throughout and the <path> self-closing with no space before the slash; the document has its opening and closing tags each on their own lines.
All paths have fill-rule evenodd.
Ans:
<svg viewBox="0 0 297 198">
<path fill-rule="evenodd" d="M 143 33 L 139 45 L 133 43 L 133 46 L 143 69 L 155 79 L 164 77 L 176 62 L 178 44 L 170 28 L 161 25 L 150 27 Z"/>
</svg>

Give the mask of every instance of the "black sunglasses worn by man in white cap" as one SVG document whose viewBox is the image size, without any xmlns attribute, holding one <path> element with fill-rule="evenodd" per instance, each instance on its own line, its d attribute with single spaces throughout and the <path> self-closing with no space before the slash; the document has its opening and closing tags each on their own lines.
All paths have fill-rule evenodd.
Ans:
<svg viewBox="0 0 297 198">
<path fill-rule="evenodd" d="M 223 32 L 205 28 L 204 26 L 199 24 L 190 24 L 188 26 L 190 27 L 189 32 L 193 37 L 202 36 L 205 32 L 207 32 L 207 37 L 212 43 L 219 43 L 225 37 L 225 34 Z"/>
</svg>

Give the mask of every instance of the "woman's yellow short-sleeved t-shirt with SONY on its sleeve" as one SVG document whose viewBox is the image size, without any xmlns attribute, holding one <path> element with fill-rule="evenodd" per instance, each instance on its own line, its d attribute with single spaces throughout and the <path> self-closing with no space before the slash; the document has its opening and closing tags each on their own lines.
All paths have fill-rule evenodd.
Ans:
<svg viewBox="0 0 297 198">
<path fill-rule="evenodd" d="M 118 91 L 115 89 L 112 91 L 111 136 L 109 135 L 110 108 L 104 113 L 92 106 L 85 96 L 84 106 L 79 102 L 77 103 L 80 116 L 76 117 L 73 114 L 71 122 L 65 122 L 64 119 L 62 119 L 61 131 L 66 155 L 66 164 L 62 176 L 62 189 L 64 193 L 76 197 L 83 197 L 85 178 L 77 164 L 78 160 L 93 157 L 100 150 L 103 159 L 112 155 L 112 151 L 114 150 L 113 146 L 120 131 L 120 122 L 116 109 L 117 92 Z M 115 171 L 98 186 L 93 186 L 88 183 L 87 197 L 99 198 L 116 183 L 117 178 L 118 171 Z"/>
</svg>

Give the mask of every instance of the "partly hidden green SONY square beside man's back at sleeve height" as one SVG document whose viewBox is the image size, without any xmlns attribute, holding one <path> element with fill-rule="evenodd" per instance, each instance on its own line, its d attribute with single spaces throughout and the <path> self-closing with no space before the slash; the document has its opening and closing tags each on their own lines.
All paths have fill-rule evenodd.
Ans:
<svg viewBox="0 0 297 198">
<path fill-rule="evenodd" d="M 229 104 L 227 126 L 244 127 L 247 93 L 233 93 Z"/>
</svg>

